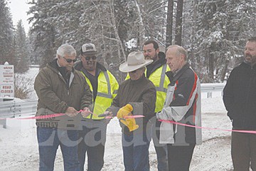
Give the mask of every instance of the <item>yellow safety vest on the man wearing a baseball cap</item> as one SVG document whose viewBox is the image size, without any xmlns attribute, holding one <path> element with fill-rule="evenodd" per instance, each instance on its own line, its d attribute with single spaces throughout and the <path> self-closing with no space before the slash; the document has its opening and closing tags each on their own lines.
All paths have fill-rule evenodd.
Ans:
<svg viewBox="0 0 256 171">
<path fill-rule="evenodd" d="M 82 71 L 80 71 L 82 73 Z M 84 73 L 82 73 L 85 76 Z M 90 83 L 89 78 L 85 76 L 85 80 L 90 86 L 90 90 L 92 91 L 92 83 Z M 100 120 L 103 117 L 98 117 L 98 115 L 105 112 L 107 108 L 110 107 L 112 100 L 117 95 L 117 90 L 119 85 L 117 83 L 116 78 L 110 73 L 110 71 L 100 71 L 100 74 L 97 78 L 97 95 L 95 101 L 92 105 L 92 112 L 95 115 L 88 115 L 86 118 L 90 118 L 93 120 Z M 94 99 L 93 99 L 94 100 Z"/>
</svg>

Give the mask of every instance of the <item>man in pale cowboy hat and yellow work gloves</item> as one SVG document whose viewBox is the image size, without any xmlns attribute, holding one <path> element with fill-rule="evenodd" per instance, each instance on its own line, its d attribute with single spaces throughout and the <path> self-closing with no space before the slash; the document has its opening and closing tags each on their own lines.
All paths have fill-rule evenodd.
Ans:
<svg viewBox="0 0 256 171">
<path fill-rule="evenodd" d="M 129 73 L 130 78 L 119 86 L 117 96 L 105 112 L 117 115 L 122 127 L 125 170 L 149 170 L 151 125 L 148 122 L 154 116 L 156 88 L 144 71 L 152 62 L 144 59 L 142 52 L 129 53 L 119 71 Z"/>
</svg>

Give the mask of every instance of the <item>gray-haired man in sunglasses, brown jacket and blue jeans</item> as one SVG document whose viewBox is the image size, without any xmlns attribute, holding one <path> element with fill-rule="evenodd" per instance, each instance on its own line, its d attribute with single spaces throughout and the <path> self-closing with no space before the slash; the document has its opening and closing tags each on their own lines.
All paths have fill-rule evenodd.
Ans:
<svg viewBox="0 0 256 171">
<path fill-rule="evenodd" d="M 38 119 L 39 170 L 53 170 L 58 146 L 63 153 L 65 171 L 79 170 L 78 126 L 81 115 L 90 113 L 92 92 L 85 78 L 75 71 L 76 51 L 63 44 L 56 58 L 39 71 L 34 88 L 38 95 L 36 116 L 65 113 L 60 117 Z"/>
</svg>

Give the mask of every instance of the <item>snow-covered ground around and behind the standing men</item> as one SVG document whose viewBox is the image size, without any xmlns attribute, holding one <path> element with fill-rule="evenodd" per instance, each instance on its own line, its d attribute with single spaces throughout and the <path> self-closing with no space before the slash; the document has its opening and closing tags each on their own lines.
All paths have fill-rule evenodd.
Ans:
<svg viewBox="0 0 256 171">
<path fill-rule="evenodd" d="M 28 75 L 34 78 L 36 69 Z M 35 98 L 35 94 L 31 95 Z M 202 95 L 202 126 L 231 129 L 220 93 L 213 98 Z M 232 170 L 230 157 L 230 132 L 203 129 L 203 144 L 197 145 L 193 153 L 191 171 Z M 157 170 L 156 152 L 153 143 L 149 147 L 151 171 Z M 0 125 L 0 170 L 38 170 L 38 144 L 35 120 L 7 120 L 7 129 Z M 63 170 L 60 149 L 55 159 L 55 170 Z M 105 165 L 102 170 L 124 170 L 122 162 L 121 130 L 116 118 L 107 128 Z"/>
</svg>

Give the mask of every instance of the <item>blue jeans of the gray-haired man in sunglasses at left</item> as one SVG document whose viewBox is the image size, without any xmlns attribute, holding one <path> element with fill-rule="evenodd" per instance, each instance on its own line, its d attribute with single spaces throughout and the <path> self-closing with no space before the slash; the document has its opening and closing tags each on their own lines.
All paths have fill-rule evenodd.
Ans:
<svg viewBox="0 0 256 171">
<path fill-rule="evenodd" d="M 60 145 L 64 170 L 79 170 L 78 131 L 58 128 L 37 128 L 40 164 L 39 170 L 53 170 L 56 151 Z"/>
</svg>

